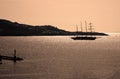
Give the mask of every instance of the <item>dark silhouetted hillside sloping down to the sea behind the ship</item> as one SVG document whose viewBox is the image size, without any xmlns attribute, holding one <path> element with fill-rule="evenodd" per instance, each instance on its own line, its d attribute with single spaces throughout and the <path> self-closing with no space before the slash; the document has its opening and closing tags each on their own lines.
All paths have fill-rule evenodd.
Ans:
<svg viewBox="0 0 120 79">
<path fill-rule="evenodd" d="M 8 20 L 0 19 L 0 36 L 41 36 L 41 35 L 75 35 L 76 32 L 69 32 L 52 25 L 32 26 L 19 24 Z M 77 34 L 91 34 L 79 32 Z M 107 35 L 94 32 L 93 35 Z"/>
</svg>

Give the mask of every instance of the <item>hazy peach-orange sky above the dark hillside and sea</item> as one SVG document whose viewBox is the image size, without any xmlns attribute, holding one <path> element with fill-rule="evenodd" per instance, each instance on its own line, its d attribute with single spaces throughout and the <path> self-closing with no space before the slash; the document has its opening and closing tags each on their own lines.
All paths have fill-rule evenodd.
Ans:
<svg viewBox="0 0 120 79">
<path fill-rule="evenodd" d="M 86 20 L 96 31 L 120 32 L 120 0 L 0 0 L 0 18 L 65 30 Z"/>
</svg>

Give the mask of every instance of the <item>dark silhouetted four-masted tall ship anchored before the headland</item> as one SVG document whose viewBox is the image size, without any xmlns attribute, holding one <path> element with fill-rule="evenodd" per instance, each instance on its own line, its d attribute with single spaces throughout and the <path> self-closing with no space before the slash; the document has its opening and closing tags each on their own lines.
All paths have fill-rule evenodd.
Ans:
<svg viewBox="0 0 120 79">
<path fill-rule="evenodd" d="M 92 23 L 89 23 L 89 27 L 87 26 L 87 22 L 85 21 L 86 32 L 82 30 L 82 22 L 81 22 L 81 35 L 79 35 L 78 26 L 76 25 L 76 35 L 71 37 L 73 40 L 95 40 L 96 37 L 93 36 L 93 26 Z M 89 32 L 88 32 L 89 29 Z M 89 33 L 89 35 L 88 35 Z"/>
</svg>

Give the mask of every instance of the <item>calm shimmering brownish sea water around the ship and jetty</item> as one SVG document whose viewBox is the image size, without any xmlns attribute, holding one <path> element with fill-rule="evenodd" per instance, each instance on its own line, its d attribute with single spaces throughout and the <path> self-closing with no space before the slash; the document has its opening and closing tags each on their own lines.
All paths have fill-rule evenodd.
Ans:
<svg viewBox="0 0 120 79">
<path fill-rule="evenodd" d="M 120 34 L 95 41 L 65 36 L 0 37 L 0 53 L 23 61 L 3 61 L 0 79 L 120 79 Z"/>
</svg>

